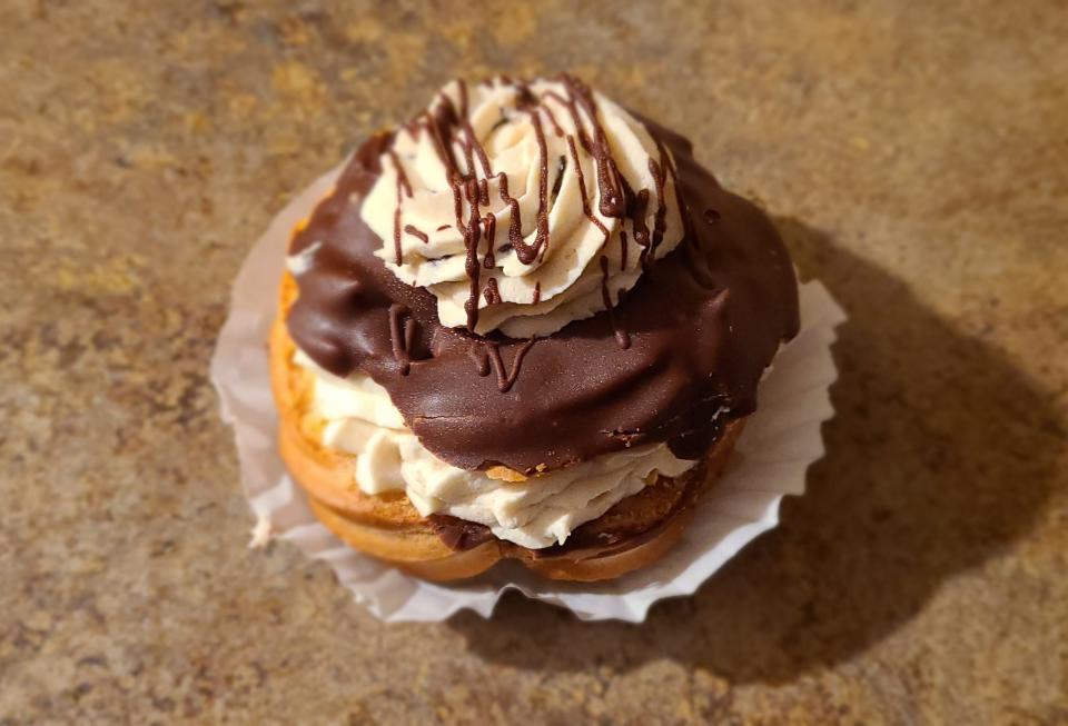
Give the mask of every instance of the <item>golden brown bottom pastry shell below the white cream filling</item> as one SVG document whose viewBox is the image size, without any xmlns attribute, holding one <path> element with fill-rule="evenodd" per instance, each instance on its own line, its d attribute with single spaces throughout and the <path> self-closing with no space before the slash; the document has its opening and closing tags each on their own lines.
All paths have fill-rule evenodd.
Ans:
<svg viewBox="0 0 1068 726">
<path fill-rule="evenodd" d="M 576 528 L 567 544 L 532 550 L 491 539 L 455 550 L 403 493 L 367 495 L 357 487 L 355 457 L 319 444 L 324 421 L 310 412 L 314 379 L 293 364 L 285 314 L 296 297 L 287 274 L 270 334 L 270 378 L 279 410 L 281 457 L 307 493 L 315 516 L 352 547 L 432 580 L 473 577 L 504 558 L 562 580 L 612 579 L 660 559 L 682 536 L 694 505 L 726 466 L 743 421 L 728 425 L 708 457 L 674 478 L 659 477 L 600 518 Z M 503 478 L 503 477 L 498 477 Z"/>
</svg>

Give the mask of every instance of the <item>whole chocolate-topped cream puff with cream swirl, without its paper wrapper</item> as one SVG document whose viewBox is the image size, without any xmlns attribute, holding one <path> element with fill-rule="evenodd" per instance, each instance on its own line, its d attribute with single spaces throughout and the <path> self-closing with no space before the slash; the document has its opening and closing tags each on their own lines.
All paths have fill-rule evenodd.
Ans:
<svg viewBox="0 0 1068 726">
<path fill-rule="evenodd" d="M 421 577 L 614 578 L 700 516 L 798 324 L 774 227 L 683 137 L 568 76 L 454 81 L 294 230 L 283 458 Z"/>
</svg>

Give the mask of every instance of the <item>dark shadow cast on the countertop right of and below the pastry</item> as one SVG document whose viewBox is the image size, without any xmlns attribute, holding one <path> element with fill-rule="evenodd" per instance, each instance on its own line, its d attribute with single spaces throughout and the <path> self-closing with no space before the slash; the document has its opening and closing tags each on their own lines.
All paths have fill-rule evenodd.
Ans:
<svg viewBox="0 0 1068 726">
<path fill-rule="evenodd" d="M 733 682 L 789 682 L 887 637 L 956 573 L 1028 531 L 1062 436 L 1047 395 L 900 280 L 795 220 L 775 223 L 850 316 L 834 349 L 828 455 L 805 496 L 789 497 L 780 527 L 696 595 L 654 606 L 643 625 L 581 623 L 510 594 L 492 620 L 449 621 L 473 653 L 546 670 L 666 657 Z"/>
</svg>

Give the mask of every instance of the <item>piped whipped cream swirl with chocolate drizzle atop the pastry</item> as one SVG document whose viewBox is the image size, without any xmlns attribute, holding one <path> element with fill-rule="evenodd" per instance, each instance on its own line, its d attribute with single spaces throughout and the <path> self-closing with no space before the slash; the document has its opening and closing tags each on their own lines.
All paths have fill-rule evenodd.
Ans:
<svg viewBox="0 0 1068 726">
<path fill-rule="evenodd" d="M 443 325 L 526 338 L 611 310 L 679 245 L 675 186 L 645 127 L 570 77 L 454 81 L 396 131 L 362 215 Z"/>
</svg>

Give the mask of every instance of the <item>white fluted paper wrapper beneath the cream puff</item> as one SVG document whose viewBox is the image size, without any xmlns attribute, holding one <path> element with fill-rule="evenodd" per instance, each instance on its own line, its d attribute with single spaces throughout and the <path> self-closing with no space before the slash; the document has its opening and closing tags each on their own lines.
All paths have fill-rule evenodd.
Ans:
<svg viewBox="0 0 1068 726">
<path fill-rule="evenodd" d="M 833 416 L 828 389 L 837 377 L 831 344 L 844 314 L 818 281 L 801 287 L 801 331 L 775 357 L 760 386 L 760 408 L 738 440 L 721 480 L 699 505 L 682 540 L 654 565 L 607 583 L 557 583 L 514 561 L 461 584 L 421 580 L 355 551 L 312 514 L 277 448 L 267 336 L 294 226 L 332 189 L 335 168 L 271 221 L 241 266 L 211 360 L 222 419 L 234 426 L 241 485 L 256 515 L 254 546 L 284 539 L 334 568 L 338 581 L 386 621 L 444 620 L 472 609 L 490 617 L 508 589 L 566 607 L 582 619 L 641 621 L 665 597 L 691 595 L 705 579 L 779 521 L 779 503 L 804 491 L 805 469 L 823 455 L 820 425 Z"/>
</svg>

